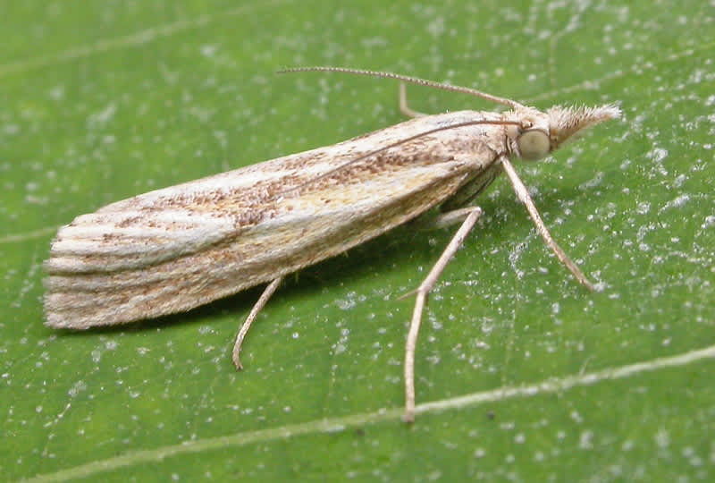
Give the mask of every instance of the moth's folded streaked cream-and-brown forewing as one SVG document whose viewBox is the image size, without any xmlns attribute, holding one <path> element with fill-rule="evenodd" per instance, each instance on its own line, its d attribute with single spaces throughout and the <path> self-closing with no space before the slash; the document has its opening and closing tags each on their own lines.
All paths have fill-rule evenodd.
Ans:
<svg viewBox="0 0 715 483">
<path fill-rule="evenodd" d="M 86 328 L 192 309 L 420 215 L 480 169 L 473 147 L 455 148 L 459 132 L 443 131 L 369 153 L 429 125 L 403 123 L 78 216 L 46 262 L 47 324 Z"/>
</svg>

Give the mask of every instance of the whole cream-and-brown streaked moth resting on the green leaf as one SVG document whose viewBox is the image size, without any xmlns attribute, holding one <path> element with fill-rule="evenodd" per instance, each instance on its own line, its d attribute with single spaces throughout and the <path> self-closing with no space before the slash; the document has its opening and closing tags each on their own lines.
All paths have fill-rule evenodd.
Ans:
<svg viewBox="0 0 715 483">
<path fill-rule="evenodd" d="M 544 242 L 586 288 L 593 284 L 553 241 L 511 159 L 546 157 L 576 133 L 618 118 L 617 106 L 553 106 L 390 72 L 307 67 L 400 80 L 413 117 L 333 146 L 150 191 L 78 216 L 57 232 L 46 261 L 46 325 L 88 329 L 194 309 L 267 284 L 240 327 L 232 359 L 284 276 L 419 217 L 461 224 L 424 282 L 405 350 L 405 417 L 413 421 L 417 333 L 427 294 L 474 227 L 475 199 L 502 172 Z M 405 83 L 482 97 L 503 112 L 425 115 L 409 109 Z"/>
</svg>

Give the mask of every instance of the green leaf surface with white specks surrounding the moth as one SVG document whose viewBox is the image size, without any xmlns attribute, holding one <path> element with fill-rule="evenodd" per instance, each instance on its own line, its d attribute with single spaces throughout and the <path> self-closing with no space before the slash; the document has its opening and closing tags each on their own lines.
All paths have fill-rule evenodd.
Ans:
<svg viewBox="0 0 715 483">
<path fill-rule="evenodd" d="M 640 4 L 0 3 L 0 478 L 712 479 L 715 7 Z M 517 164 L 603 290 L 496 182 L 426 311 L 417 402 L 442 403 L 412 427 L 397 298 L 452 230 L 400 228 L 291 278 L 241 374 L 231 344 L 258 289 L 115 330 L 42 324 L 42 262 L 74 216 L 402 119 L 392 81 L 273 74 L 310 64 L 625 114 Z M 408 93 L 426 112 L 494 108 Z"/>
</svg>

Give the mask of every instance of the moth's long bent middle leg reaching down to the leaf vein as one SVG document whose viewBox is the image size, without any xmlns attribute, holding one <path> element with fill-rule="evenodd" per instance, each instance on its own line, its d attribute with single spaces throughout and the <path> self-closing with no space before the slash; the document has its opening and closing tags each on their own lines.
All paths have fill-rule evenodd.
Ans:
<svg viewBox="0 0 715 483">
<path fill-rule="evenodd" d="M 474 228 L 476 220 L 479 219 L 479 216 L 482 216 L 482 208 L 471 207 L 464 208 L 464 210 L 468 210 L 467 217 L 464 218 L 457 233 L 454 233 L 447 248 L 442 251 L 442 255 L 437 260 L 437 263 L 434 264 L 430 273 L 416 290 L 415 310 L 412 312 L 412 320 L 409 323 L 408 340 L 405 344 L 405 422 L 413 422 L 415 420 L 415 348 L 419 325 L 422 320 L 422 312 L 425 309 L 425 302 L 427 301 L 427 294 L 432 290 L 434 284 L 437 283 L 444 267 L 447 266 L 450 258 L 454 256 L 465 238 L 467 238 L 467 234 Z M 464 210 L 457 211 L 460 212 Z"/>
</svg>

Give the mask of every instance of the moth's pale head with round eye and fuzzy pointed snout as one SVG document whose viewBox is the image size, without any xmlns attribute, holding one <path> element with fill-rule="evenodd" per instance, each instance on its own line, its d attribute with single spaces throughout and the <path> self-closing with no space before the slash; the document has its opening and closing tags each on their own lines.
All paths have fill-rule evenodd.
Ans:
<svg viewBox="0 0 715 483">
<path fill-rule="evenodd" d="M 546 113 L 528 109 L 524 126 L 518 128 L 517 147 L 526 160 L 537 160 L 555 151 L 567 140 L 576 140 L 594 124 L 617 119 L 620 109 L 607 104 L 598 107 L 553 106 Z"/>
</svg>

